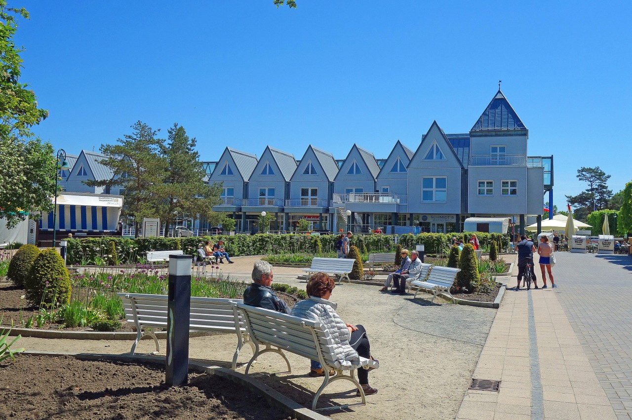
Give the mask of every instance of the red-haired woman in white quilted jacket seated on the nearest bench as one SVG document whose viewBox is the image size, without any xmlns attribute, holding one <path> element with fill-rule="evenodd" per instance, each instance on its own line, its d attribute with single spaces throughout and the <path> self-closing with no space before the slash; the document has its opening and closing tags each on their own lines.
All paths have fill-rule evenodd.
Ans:
<svg viewBox="0 0 632 420">
<path fill-rule="evenodd" d="M 371 356 L 371 347 L 364 327 L 345 323 L 336 313 L 336 303 L 329 301 L 334 287 L 336 287 L 336 282 L 329 275 L 315 273 L 307 282 L 309 299 L 296 303 L 291 315 L 324 323 L 332 339 L 339 345 L 336 354 L 341 364 L 359 361 L 359 356 L 375 360 Z M 358 381 L 365 395 L 377 393 L 377 389 L 368 385 L 370 370 L 372 368 L 358 369 Z"/>
</svg>

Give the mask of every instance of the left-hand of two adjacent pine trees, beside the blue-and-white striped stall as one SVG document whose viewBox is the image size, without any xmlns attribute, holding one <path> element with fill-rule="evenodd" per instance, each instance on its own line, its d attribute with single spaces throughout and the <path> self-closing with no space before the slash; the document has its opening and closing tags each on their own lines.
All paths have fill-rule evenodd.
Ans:
<svg viewBox="0 0 632 420">
<path fill-rule="evenodd" d="M 155 189 L 164 181 L 166 164 L 159 155 L 162 141 L 156 138 L 158 130 L 142 121 L 137 121 L 131 128 L 131 135 L 116 140 L 118 144 L 100 147 L 101 153 L 107 155 L 101 163 L 112 169 L 112 179 L 84 183 L 89 186 L 118 184 L 125 189 L 123 215 L 134 217 L 138 236 L 143 217 L 159 215 L 160 202 Z"/>
</svg>

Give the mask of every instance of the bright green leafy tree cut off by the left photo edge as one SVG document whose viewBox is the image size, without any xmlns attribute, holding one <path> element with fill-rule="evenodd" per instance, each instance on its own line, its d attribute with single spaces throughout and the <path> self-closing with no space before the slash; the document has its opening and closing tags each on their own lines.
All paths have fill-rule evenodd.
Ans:
<svg viewBox="0 0 632 420">
<path fill-rule="evenodd" d="M 37 107 L 35 93 L 20 82 L 23 49 L 13 40 L 20 16 L 28 19 L 27 10 L 0 0 L 0 219 L 8 227 L 28 212 L 52 210 L 56 176 L 52 146 L 31 131 L 48 111 Z"/>
</svg>

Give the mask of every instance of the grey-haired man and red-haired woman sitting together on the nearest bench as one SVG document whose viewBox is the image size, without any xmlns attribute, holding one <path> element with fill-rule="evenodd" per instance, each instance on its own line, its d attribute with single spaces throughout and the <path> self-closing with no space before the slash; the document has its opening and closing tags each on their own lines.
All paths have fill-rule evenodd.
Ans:
<svg viewBox="0 0 632 420">
<path fill-rule="evenodd" d="M 337 357 L 343 364 L 358 361 L 359 357 L 375 360 L 371 357 L 370 344 L 364 327 L 344 323 L 336 313 L 336 303 L 329 301 L 336 287 L 334 279 L 325 273 L 312 275 L 307 282 L 309 299 L 296 303 L 290 310 L 288 305 L 270 288 L 273 277 L 270 263 L 262 260 L 255 262 L 252 270 L 253 283 L 244 292 L 243 303 L 324 324 L 329 330 L 333 344 L 338 348 Z M 368 385 L 368 372 L 372 369 L 358 369 L 358 381 L 365 395 L 377 393 L 377 389 Z M 330 375 L 333 374 L 332 371 Z M 312 360 L 309 376 L 325 376 L 325 371 L 319 362 Z M 360 391 L 357 395 L 360 395 Z"/>
</svg>

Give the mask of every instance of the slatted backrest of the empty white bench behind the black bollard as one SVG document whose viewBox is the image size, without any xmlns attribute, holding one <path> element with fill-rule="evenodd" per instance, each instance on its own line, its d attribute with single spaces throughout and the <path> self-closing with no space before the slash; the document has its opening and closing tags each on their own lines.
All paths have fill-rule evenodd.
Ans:
<svg viewBox="0 0 632 420">
<path fill-rule="evenodd" d="M 126 321 L 134 323 L 136 317 L 142 327 L 166 327 L 167 295 L 117 293 L 117 296 L 123 301 Z M 192 296 L 190 329 L 234 332 L 233 303 L 243 303 L 243 300 Z M 243 319 L 240 319 L 240 330 L 246 330 Z"/>
</svg>

